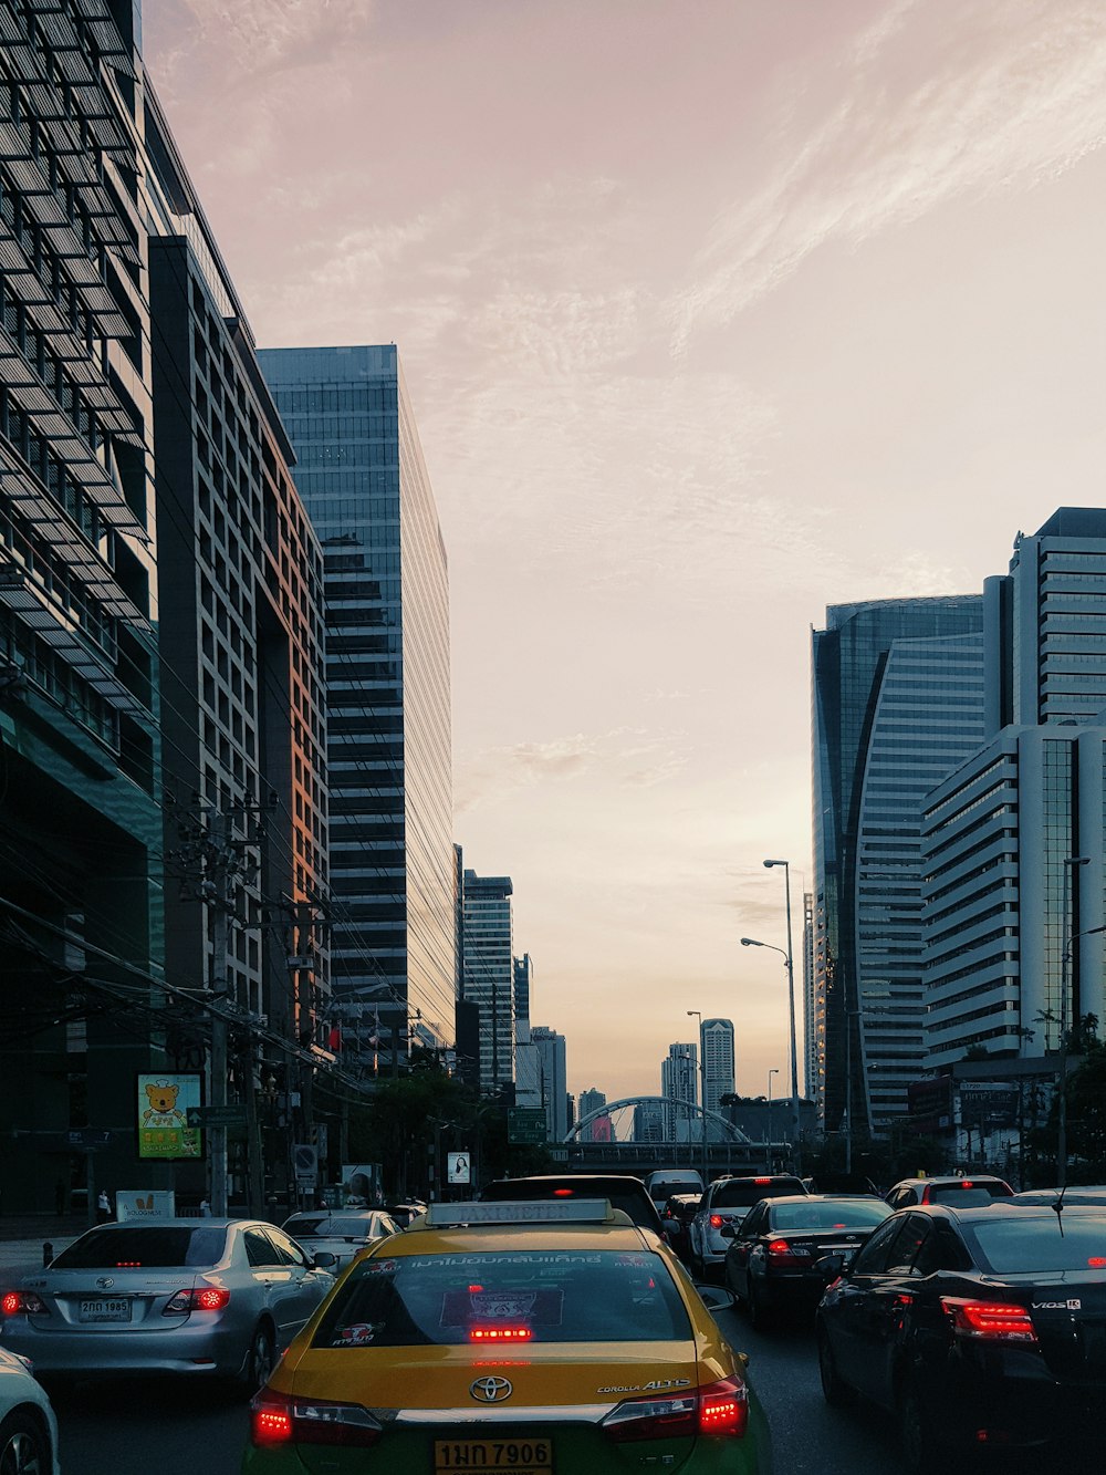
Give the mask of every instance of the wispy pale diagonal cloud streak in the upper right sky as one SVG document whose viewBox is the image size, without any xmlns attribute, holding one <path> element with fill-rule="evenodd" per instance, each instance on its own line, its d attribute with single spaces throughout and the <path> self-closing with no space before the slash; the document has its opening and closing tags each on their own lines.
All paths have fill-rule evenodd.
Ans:
<svg viewBox="0 0 1106 1475">
<path fill-rule="evenodd" d="M 841 59 L 821 118 L 818 55 L 787 80 L 770 181 L 723 212 L 672 305 L 674 348 L 727 323 L 832 240 L 857 246 L 959 196 L 1032 187 L 1106 137 L 1106 10 L 1004 0 L 898 4 Z M 817 106 L 817 105 L 815 105 Z"/>
</svg>

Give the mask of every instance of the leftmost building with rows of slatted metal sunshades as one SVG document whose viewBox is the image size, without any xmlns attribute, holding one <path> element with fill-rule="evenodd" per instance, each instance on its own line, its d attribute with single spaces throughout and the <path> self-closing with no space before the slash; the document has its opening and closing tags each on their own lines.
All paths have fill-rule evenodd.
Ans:
<svg viewBox="0 0 1106 1475">
<path fill-rule="evenodd" d="M 105 0 L 3 0 L 0 37 L 0 1120 L 12 1212 L 68 1198 L 84 1159 L 46 1149 L 74 1122 L 134 1121 L 134 1072 L 164 1061 L 149 1021 L 165 994 L 137 19 Z M 100 1171 L 122 1181 L 131 1161 L 116 1134 Z"/>
</svg>

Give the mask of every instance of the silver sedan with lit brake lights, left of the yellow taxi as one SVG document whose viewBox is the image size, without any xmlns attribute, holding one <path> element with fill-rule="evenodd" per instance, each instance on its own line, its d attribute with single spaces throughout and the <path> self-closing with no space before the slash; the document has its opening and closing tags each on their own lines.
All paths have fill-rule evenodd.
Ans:
<svg viewBox="0 0 1106 1475">
<path fill-rule="evenodd" d="M 258 1220 L 100 1224 L 0 1292 L 0 1345 L 53 1379 L 180 1373 L 260 1388 L 335 1283 Z"/>
</svg>

